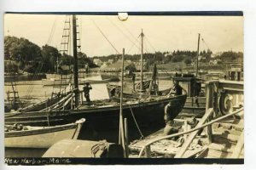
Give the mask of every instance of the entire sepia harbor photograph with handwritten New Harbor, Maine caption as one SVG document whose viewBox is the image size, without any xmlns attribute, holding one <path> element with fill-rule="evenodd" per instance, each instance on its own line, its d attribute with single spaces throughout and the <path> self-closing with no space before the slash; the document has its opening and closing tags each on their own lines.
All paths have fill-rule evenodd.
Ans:
<svg viewBox="0 0 256 170">
<path fill-rule="evenodd" d="M 243 19 L 5 13 L 5 164 L 243 164 Z"/>
</svg>

